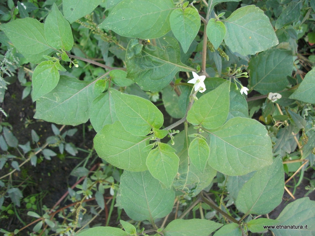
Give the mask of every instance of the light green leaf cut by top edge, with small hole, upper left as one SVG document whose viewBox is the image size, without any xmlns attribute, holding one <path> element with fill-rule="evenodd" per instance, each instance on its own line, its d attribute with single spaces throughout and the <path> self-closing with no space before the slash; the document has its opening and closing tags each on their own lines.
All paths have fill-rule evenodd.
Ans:
<svg viewBox="0 0 315 236">
<path fill-rule="evenodd" d="M 63 0 L 63 14 L 66 20 L 72 24 L 81 17 L 90 14 L 102 1 L 103 0 Z"/>
</svg>

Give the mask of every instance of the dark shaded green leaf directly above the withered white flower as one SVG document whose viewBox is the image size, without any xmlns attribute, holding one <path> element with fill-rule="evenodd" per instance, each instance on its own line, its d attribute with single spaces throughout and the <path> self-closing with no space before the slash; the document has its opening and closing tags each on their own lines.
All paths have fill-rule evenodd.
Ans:
<svg viewBox="0 0 315 236">
<path fill-rule="evenodd" d="M 292 52 L 271 49 L 259 53 L 249 61 L 249 88 L 261 94 L 275 93 L 288 85 L 292 73 Z"/>
</svg>

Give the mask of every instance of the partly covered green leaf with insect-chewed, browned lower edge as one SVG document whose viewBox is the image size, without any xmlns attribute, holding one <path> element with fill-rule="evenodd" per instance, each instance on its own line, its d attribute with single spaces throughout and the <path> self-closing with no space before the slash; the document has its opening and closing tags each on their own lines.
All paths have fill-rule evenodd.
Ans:
<svg viewBox="0 0 315 236">
<path fill-rule="evenodd" d="M 191 128 L 192 132 L 196 132 Z M 177 190 L 187 193 L 189 196 L 194 197 L 200 193 L 204 188 L 208 187 L 217 171 L 206 165 L 204 172 L 192 164 L 188 157 L 189 142 L 184 141 L 185 131 L 180 132 L 174 137 L 174 148 L 178 151 L 180 162 L 178 167 L 178 177 L 175 178 L 173 187 Z M 188 137 L 187 137 L 188 138 Z"/>
</svg>

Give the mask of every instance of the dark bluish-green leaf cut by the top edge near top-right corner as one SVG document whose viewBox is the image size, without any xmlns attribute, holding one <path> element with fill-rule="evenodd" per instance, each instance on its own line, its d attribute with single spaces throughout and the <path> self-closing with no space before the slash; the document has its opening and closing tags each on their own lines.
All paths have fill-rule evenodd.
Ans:
<svg viewBox="0 0 315 236">
<path fill-rule="evenodd" d="M 278 17 L 275 28 L 280 29 L 288 23 L 299 20 L 301 15 L 301 5 L 301 1 L 295 0 L 290 2 Z"/>
</svg>

